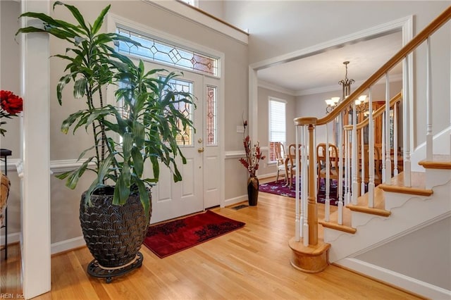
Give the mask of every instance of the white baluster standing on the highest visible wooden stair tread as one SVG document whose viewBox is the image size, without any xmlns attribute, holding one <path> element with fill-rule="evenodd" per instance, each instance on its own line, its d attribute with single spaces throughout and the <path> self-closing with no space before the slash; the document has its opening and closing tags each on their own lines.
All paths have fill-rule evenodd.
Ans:
<svg viewBox="0 0 451 300">
<path fill-rule="evenodd" d="M 431 37 L 426 40 L 426 160 L 432 160 L 432 67 Z"/>
</svg>

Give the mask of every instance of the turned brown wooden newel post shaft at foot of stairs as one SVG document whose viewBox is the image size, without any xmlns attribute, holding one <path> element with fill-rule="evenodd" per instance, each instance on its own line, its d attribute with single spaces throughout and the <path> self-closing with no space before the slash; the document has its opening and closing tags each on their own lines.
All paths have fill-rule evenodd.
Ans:
<svg viewBox="0 0 451 300">
<path fill-rule="evenodd" d="M 316 180 L 315 180 L 315 157 L 314 157 L 314 125 L 309 125 L 309 245 L 318 244 L 318 207 L 316 206 Z"/>
</svg>

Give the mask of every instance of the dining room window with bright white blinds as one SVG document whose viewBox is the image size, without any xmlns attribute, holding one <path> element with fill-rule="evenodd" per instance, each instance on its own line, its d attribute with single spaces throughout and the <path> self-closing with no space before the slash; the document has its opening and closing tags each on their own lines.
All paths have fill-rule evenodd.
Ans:
<svg viewBox="0 0 451 300">
<path fill-rule="evenodd" d="M 274 142 L 286 141 L 286 101 L 269 97 L 269 161 L 276 161 Z"/>
</svg>

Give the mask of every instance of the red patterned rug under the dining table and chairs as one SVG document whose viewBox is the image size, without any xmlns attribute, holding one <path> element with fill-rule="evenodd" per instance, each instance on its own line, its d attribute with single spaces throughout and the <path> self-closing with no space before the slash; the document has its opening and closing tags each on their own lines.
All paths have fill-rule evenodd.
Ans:
<svg viewBox="0 0 451 300">
<path fill-rule="evenodd" d="M 285 186 L 285 180 L 278 180 L 277 183 L 275 181 L 261 183 L 259 191 L 277 194 L 280 196 L 287 196 L 291 198 L 295 198 L 296 196 L 295 186 L 293 185 L 293 187 L 290 189 L 290 187 Z M 336 180 L 332 180 L 332 184 L 330 185 L 329 199 L 330 205 L 335 206 L 338 205 Z M 319 186 L 319 193 L 316 195 L 316 201 L 318 203 L 324 203 L 326 201 L 326 187 L 324 185 L 324 180 L 321 180 L 321 185 Z"/>
</svg>

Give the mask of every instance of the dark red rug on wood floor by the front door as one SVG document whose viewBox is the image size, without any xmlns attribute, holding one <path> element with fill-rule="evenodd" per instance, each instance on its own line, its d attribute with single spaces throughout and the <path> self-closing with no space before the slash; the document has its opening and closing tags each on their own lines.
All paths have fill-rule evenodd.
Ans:
<svg viewBox="0 0 451 300">
<path fill-rule="evenodd" d="M 163 258 L 225 235 L 244 225 L 245 223 L 223 217 L 213 211 L 206 211 L 187 218 L 149 226 L 144 245 L 159 258 Z"/>
</svg>

